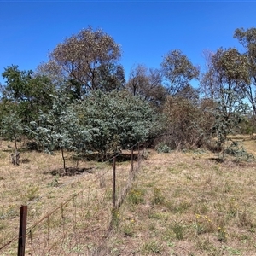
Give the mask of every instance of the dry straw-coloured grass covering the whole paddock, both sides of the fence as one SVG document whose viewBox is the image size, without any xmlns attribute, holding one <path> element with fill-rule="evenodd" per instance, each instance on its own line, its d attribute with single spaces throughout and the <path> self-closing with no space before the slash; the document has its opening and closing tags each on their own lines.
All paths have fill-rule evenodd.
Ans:
<svg viewBox="0 0 256 256">
<path fill-rule="evenodd" d="M 244 143 L 250 153 L 256 153 L 255 141 L 246 139 Z M 48 247 L 49 255 L 256 255 L 255 162 L 237 162 L 228 156 L 224 163 L 218 163 L 216 155 L 203 150 L 170 154 L 149 151 L 124 204 L 114 212 L 115 229 L 106 238 L 111 218 L 111 166 L 98 166 L 96 172 L 58 177 L 56 181 L 49 172 L 61 167 L 60 154 L 23 152 L 23 163 L 11 166 L 9 148 L 3 142 L 0 247 L 17 233 L 20 204 L 29 206 L 30 225 L 88 188 L 35 229 L 52 240 L 55 234 L 66 232 L 65 240 L 56 241 L 54 247 L 54 242 L 32 234 L 41 244 L 32 255 L 45 255 Z M 96 165 L 80 163 L 84 168 Z M 125 183 L 129 167 L 119 163 L 119 184 Z M 108 177 L 100 178 L 103 172 L 108 172 Z M 93 180 L 97 183 L 89 186 Z M 90 207 L 92 210 L 87 211 Z M 75 232 L 68 232 L 74 226 Z M 31 246 L 29 239 L 27 245 Z M 43 252 L 39 251 L 42 247 Z M 16 248 L 8 250 L 0 254 L 15 255 Z"/>
</svg>

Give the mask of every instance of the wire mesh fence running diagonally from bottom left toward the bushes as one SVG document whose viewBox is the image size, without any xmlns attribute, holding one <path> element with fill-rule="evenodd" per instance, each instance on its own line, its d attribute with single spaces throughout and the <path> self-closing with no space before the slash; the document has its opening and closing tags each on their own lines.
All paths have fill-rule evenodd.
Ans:
<svg viewBox="0 0 256 256">
<path fill-rule="evenodd" d="M 134 148 L 137 149 L 136 161 Z M 9 232 L 0 239 L 0 254 L 17 255 L 18 240 L 24 238 L 25 251 L 19 256 L 96 255 L 113 230 L 118 209 L 131 189 L 143 158 L 139 143 L 130 149 L 131 165 L 116 166 L 117 155 L 107 161 L 113 162 L 113 166 L 95 167 L 93 177 L 82 177 L 83 187 L 73 191 L 72 196 L 66 198 L 64 190 L 60 189 L 62 200 L 58 201 L 61 203 L 55 205 L 53 201 L 51 210 L 40 218 L 36 218 L 37 210 L 34 207 L 27 207 L 26 237 L 19 237 L 18 220 L 10 221 Z M 72 183 L 68 185 L 72 187 Z M 14 214 L 14 218 L 19 215 L 14 209 L 10 214 Z"/>
</svg>

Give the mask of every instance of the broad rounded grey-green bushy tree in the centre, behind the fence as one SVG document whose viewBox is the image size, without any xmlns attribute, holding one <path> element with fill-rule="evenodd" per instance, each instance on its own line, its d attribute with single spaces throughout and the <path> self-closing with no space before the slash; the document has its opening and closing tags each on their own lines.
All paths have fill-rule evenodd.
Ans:
<svg viewBox="0 0 256 256">
<path fill-rule="evenodd" d="M 102 158 L 144 142 L 160 129 L 158 115 L 148 102 L 125 91 L 102 93 L 97 90 L 75 108 L 83 125 L 95 129 L 90 150 L 99 152 Z"/>
</svg>

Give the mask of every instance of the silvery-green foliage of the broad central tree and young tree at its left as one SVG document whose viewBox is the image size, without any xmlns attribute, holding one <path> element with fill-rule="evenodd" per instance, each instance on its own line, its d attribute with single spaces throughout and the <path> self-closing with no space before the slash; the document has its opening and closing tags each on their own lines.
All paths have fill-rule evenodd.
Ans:
<svg viewBox="0 0 256 256">
<path fill-rule="evenodd" d="M 53 108 L 39 113 L 32 122 L 32 134 L 44 148 L 98 152 L 102 157 L 121 148 L 143 142 L 160 130 L 158 115 L 148 103 L 125 91 L 90 93 L 84 101 L 68 102 L 66 96 L 53 96 Z"/>
</svg>

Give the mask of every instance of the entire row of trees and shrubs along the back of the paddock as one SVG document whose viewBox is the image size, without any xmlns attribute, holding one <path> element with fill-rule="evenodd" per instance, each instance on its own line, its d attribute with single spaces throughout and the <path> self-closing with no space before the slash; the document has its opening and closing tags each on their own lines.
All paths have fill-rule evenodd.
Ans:
<svg viewBox="0 0 256 256">
<path fill-rule="evenodd" d="M 64 166 L 67 150 L 104 158 L 138 141 L 224 157 L 230 133 L 255 132 L 256 28 L 236 29 L 234 38 L 244 52 L 204 51 L 205 68 L 172 49 L 159 68 L 138 64 L 125 81 L 119 44 L 102 29 L 83 29 L 34 71 L 4 68 L 1 136 L 15 148 L 26 138 L 48 152 L 61 149 Z"/>
</svg>

